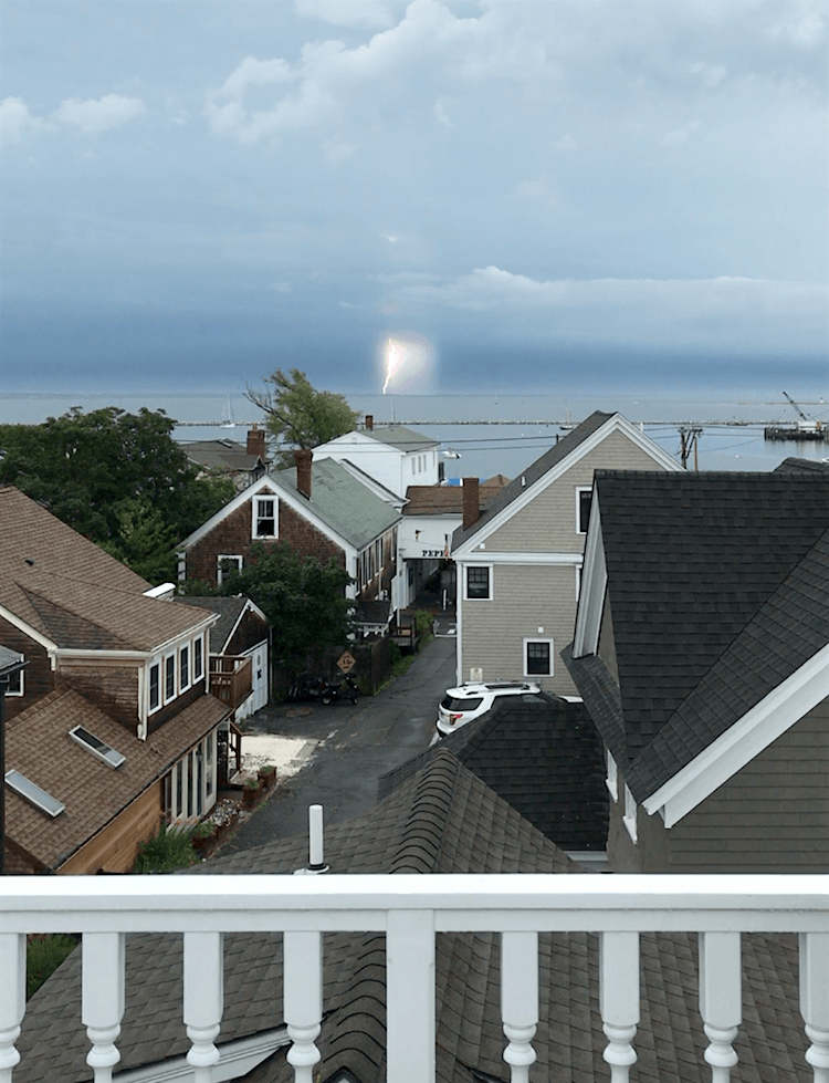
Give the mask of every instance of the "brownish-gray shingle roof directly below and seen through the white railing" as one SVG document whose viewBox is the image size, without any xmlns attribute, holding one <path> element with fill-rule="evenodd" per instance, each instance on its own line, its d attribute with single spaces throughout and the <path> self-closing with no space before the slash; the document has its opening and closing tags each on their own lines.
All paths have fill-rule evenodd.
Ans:
<svg viewBox="0 0 829 1083">
<path fill-rule="evenodd" d="M 400 781 L 368 816 L 326 833 L 326 860 L 340 872 L 544 872 L 575 866 L 445 748 Z M 304 839 L 222 858 L 197 875 L 276 873 L 306 864 Z M 797 1012 L 797 950 L 791 937 L 743 938 L 744 1023 L 735 1048 L 741 1083 L 807 1083 L 806 1041 Z M 29 1003 L 18 1041 L 15 1083 L 82 1083 L 88 1048 L 80 1020 L 80 952 Z M 597 939 L 542 934 L 541 1022 L 532 1079 L 598 1083 L 609 1077 L 598 1014 Z M 637 1037 L 640 1083 L 703 1083 L 711 1069 L 699 1018 L 696 937 L 642 936 L 642 1016 Z M 322 1083 L 380 1083 L 385 1072 L 385 945 L 381 935 L 326 937 L 324 1020 L 317 1044 Z M 224 1017 L 216 1080 L 288 1083 L 281 1008 L 282 952 L 276 935 L 227 935 Z M 495 934 L 445 933 L 437 940 L 437 1079 L 492 1083 L 508 1079 L 500 1014 Z M 143 934 L 127 943 L 127 1009 L 116 1080 L 180 1077 L 189 1041 L 181 1021 L 181 940 Z"/>
</svg>

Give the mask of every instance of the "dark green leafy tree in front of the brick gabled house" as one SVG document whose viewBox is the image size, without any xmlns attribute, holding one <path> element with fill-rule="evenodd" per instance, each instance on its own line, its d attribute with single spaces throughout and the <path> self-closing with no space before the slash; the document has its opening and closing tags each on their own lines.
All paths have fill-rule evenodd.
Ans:
<svg viewBox="0 0 829 1083">
<path fill-rule="evenodd" d="M 181 584 L 188 594 L 244 594 L 273 626 L 273 642 L 291 662 L 321 647 L 345 644 L 354 603 L 345 596 L 350 575 L 332 558 L 300 556 L 286 542 L 255 544 L 253 560 L 240 573 L 225 569 L 221 586 Z"/>
</svg>

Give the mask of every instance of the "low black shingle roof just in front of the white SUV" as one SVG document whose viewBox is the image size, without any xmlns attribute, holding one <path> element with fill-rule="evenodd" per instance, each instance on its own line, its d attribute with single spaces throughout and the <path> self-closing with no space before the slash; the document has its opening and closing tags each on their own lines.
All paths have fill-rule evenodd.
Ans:
<svg viewBox="0 0 829 1083">
<path fill-rule="evenodd" d="M 564 850 L 602 851 L 608 791 L 601 742 L 584 704 L 508 697 L 380 779 L 380 798 L 441 749 Z"/>
</svg>

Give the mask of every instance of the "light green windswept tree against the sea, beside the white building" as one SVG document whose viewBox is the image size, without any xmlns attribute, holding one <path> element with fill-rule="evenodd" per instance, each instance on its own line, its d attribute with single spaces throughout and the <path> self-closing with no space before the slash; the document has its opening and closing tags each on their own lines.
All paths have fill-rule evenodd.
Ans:
<svg viewBox="0 0 829 1083">
<path fill-rule="evenodd" d="M 356 426 L 359 414 L 344 395 L 318 392 L 298 368 L 287 375 L 281 368 L 264 377 L 264 390 L 246 390 L 246 397 L 267 414 L 267 428 L 286 450 L 282 466 L 291 466 L 294 448 L 314 448 Z"/>
</svg>

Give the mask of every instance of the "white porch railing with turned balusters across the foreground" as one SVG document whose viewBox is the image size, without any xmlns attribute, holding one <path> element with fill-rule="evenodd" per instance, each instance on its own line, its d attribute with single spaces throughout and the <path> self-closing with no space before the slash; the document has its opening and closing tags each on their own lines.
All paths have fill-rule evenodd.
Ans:
<svg viewBox="0 0 829 1083">
<path fill-rule="evenodd" d="M 95 1083 L 118 1063 L 124 934 L 182 933 L 183 1020 L 196 1083 L 219 1061 L 222 934 L 285 933 L 284 1019 L 297 1083 L 311 1083 L 324 1008 L 322 933 L 387 938 L 390 1083 L 434 1080 L 434 935 L 502 934 L 504 1060 L 526 1083 L 538 1022 L 541 931 L 600 934 L 600 1011 L 612 1083 L 636 1061 L 639 934 L 701 937 L 700 1012 L 713 1083 L 727 1083 L 741 1025 L 741 933 L 800 934 L 800 1012 L 815 1083 L 829 1083 L 829 883 L 821 876 L 7 877 L 0 882 L 0 1083 L 12 1083 L 24 1013 L 27 933 L 83 936 L 82 1022 Z M 279 1016 L 279 1010 L 274 1011 Z"/>
</svg>

